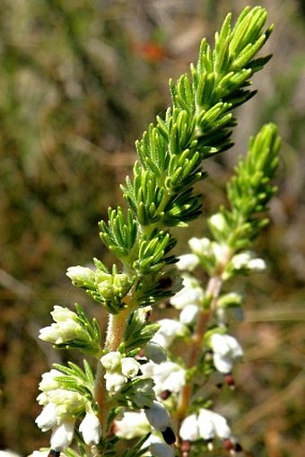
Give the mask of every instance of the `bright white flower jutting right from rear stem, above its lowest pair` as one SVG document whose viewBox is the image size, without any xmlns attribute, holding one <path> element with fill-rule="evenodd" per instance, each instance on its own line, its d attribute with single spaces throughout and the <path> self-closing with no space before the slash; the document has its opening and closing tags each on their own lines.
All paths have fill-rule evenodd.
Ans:
<svg viewBox="0 0 305 457">
<path fill-rule="evenodd" d="M 210 341 L 213 350 L 213 364 L 223 374 L 231 373 L 234 360 L 243 356 L 243 350 L 231 335 L 213 333 Z"/>
</svg>

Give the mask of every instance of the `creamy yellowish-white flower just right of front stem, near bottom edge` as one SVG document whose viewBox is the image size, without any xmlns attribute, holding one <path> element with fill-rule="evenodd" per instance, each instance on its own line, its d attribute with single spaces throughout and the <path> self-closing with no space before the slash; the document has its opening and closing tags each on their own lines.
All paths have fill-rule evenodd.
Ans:
<svg viewBox="0 0 305 457">
<path fill-rule="evenodd" d="M 115 434 L 126 440 L 146 435 L 150 430 L 144 411 L 126 411 L 122 419 L 115 421 Z"/>
</svg>

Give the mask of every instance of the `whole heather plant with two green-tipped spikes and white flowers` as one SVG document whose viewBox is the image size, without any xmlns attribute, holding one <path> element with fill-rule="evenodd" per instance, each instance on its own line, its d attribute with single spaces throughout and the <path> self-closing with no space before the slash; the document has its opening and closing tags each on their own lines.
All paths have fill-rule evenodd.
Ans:
<svg viewBox="0 0 305 457">
<path fill-rule="evenodd" d="M 257 57 L 272 31 L 265 24 L 266 10 L 246 7 L 233 26 L 228 14 L 213 49 L 202 40 L 190 75 L 170 81 L 172 106 L 136 142 L 133 175 L 121 187 L 126 209 L 109 208 L 109 220 L 100 222 L 116 262 L 68 268 L 74 286 L 108 313 L 108 328 L 104 337 L 99 314 L 90 320 L 75 303 L 74 310 L 54 306 L 54 322 L 40 330 L 55 349 L 88 359 L 42 375 L 36 422 L 51 437 L 35 457 L 195 457 L 218 445 L 241 451 L 206 387 L 232 387 L 243 354 L 230 325 L 242 317 L 244 297 L 232 285 L 265 268 L 251 249 L 275 190 L 276 127 L 249 140 L 227 185 L 228 207 L 208 217 L 210 238 L 192 238 L 191 252 L 177 259 L 171 228 L 200 220 L 195 185 L 206 177 L 203 161 L 231 147 L 232 111 L 255 93 L 250 78 L 270 58 Z M 200 269 L 206 281 L 195 275 Z M 170 314 L 154 321 L 159 303 Z"/>
</svg>

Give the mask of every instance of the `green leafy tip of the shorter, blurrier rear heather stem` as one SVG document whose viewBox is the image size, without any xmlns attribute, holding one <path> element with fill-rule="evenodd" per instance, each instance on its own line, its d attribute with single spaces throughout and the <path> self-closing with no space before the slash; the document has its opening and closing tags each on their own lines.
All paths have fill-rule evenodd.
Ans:
<svg viewBox="0 0 305 457">
<path fill-rule="evenodd" d="M 227 243 L 233 250 L 244 249 L 268 223 L 266 217 L 257 215 L 266 211 L 276 190 L 270 181 L 277 170 L 280 144 L 273 124 L 266 125 L 250 139 L 247 157 L 240 157 L 236 174 L 227 186 L 231 209 L 220 208 L 219 224 L 213 224 L 213 218 L 208 220 L 216 241 Z"/>
</svg>

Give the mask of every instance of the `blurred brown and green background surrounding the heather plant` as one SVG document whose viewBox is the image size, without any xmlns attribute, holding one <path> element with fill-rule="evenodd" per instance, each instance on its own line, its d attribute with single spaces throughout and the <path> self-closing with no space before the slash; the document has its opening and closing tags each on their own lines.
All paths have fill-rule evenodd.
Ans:
<svg viewBox="0 0 305 457">
<path fill-rule="evenodd" d="M 2 0 L 0 449 L 26 455 L 48 444 L 35 398 L 41 374 L 65 354 L 40 342 L 39 328 L 54 304 L 99 311 L 65 269 L 95 256 L 111 264 L 97 223 L 122 202 L 135 139 L 169 104 L 168 80 L 188 71 L 202 37 L 213 42 L 225 14 L 246 4 L 267 8 L 275 30 L 264 52 L 274 58 L 236 113 L 234 149 L 205 163 L 205 213 L 225 201 L 236 156 L 264 122 L 278 124 L 283 147 L 272 222 L 255 246 L 268 269 L 237 285 L 247 294 L 235 330 L 245 362 L 237 390 L 221 392 L 222 409 L 249 456 L 304 455 L 303 0 Z M 204 234 L 202 221 L 180 230 L 178 253 Z"/>
</svg>

